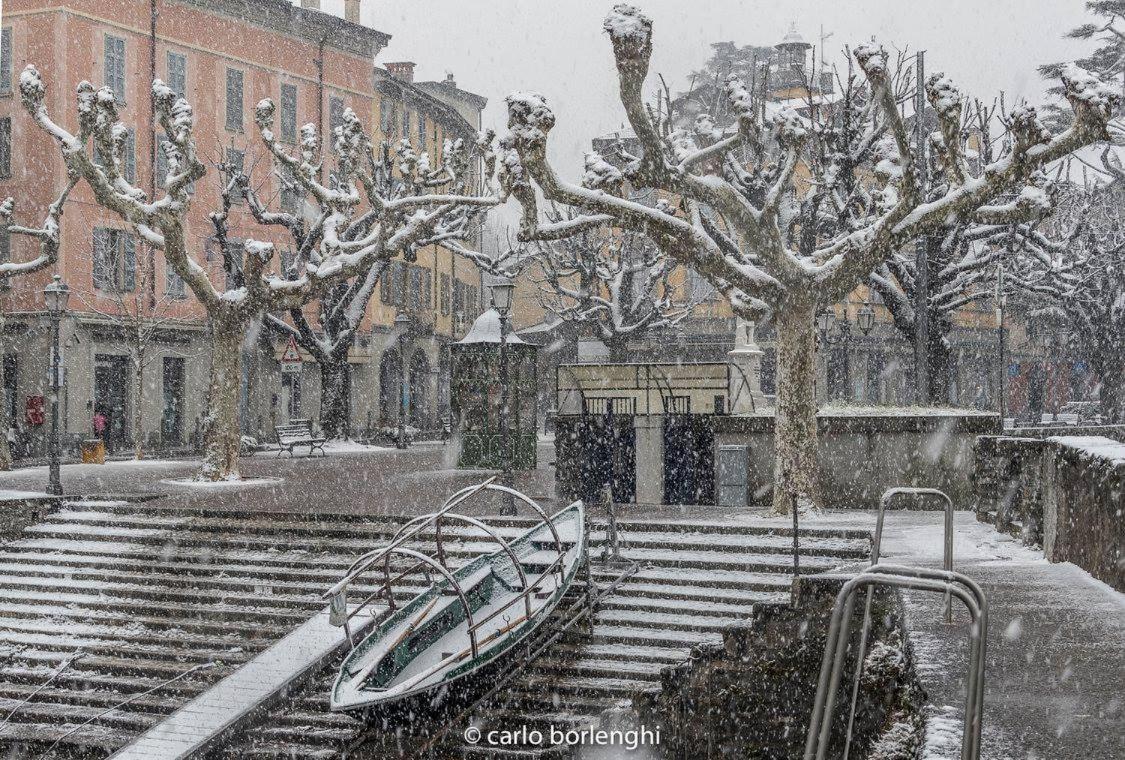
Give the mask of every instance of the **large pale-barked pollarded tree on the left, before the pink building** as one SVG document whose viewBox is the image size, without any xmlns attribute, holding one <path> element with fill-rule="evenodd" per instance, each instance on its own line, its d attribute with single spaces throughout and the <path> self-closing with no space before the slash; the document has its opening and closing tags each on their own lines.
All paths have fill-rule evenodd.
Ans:
<svg viewBox="0 0 1125 760">
<path fill-rule="evenodd" d="M 192 255 L 187 234 L 191 202 L 189 186 L 207 169 L 196 151 L 191 106 L 160 80 L 153 81 L 153 102 L 164 130 L 162 144 L 168 173 L 160 183 L 163 194 L 150 199 L 126 181 L 123 172 L 126 127 L 117 120 L 114 93 L 89 82 L 78 88 L 78 132 L 60 126 L 44 105 L 46 87 L 34 66 L 20 75 L 24 106 L 35 123 L 60 145 L 70 175 L 83 179 L 96 201 L 128 223 L 141 238 L 163 252 L 207 313 L 212 338 L 212 369 L 205 417 L 205 451 L 200 478 L 225 480 L 238 477 L 238 388 L 241 346 L 250 327 L 271 311 L 300 309 L 323 297 L 333 286 L 357 277 L 379 259 L 406 255 L 414 246 L 441 234 L 441 224 L 457 205 L 493 205 L 494 198 L 425 193 L 387 200 L 370 182 L 366 163 L 371 147 L 356 115 L 346 109 L 332 135 L 332 171 L 321 180 L 324 159 L 316 128 L 302 128 L 299 154 L 281 148 L 273 136 L 274 106 L 269 99 L 255 108 L 262 142 L 272 156 L 297 180 L 316 207 L 310 219 L 300 220 L 318 229 L 306 250 L 298 251 L 295 278 L 271 270 L 272 243 L 226 235 L 226 215 L 233 193 L 249 187 L 238 171 L 226 172 L 224 201 L 210 214 L 215 238 L 223 254 L 226 281 L 219 288 Z M 94 161 L 94 154 L 109 156 Z M 295 220 L 296 221 L 296 220 Z"/>
</svg>

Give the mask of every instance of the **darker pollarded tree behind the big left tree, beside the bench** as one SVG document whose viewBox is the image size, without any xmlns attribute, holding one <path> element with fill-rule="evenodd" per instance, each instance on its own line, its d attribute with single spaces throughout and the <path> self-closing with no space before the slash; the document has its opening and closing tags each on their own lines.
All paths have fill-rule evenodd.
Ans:
<svg viewBox="0 0 1125 760">
<path fill-rule="evenodd" d="M 318 164 L 286 155 L 267 134 L 272 128 L 268 118 L 263 120 L 268 116 L 260 109 L 258 126 L 274 156 L 276 173 L 286 188 L 286 194 L 304 198 L 310 193 L 308 187 L 315 182 Z M 415 236 L 400 248 L 386 248 L 382 255 L 372 256 L 353 277 L 340 279 L 328 287 L 316 299 L 313 315 L 303 308 L 289 308 L 288 320 L 279 314 L 267 315 L 268 324 L 274 331 L 292 336 L 320 365 L 321 427 L 328 438 L 348 435 L 351 398 L 348 352 L 392 259 L 400 254 L 402 260 L 414 261 L 418 248 L 426 245 L 446 245 L 469 255 L 461 242 L 472 237 L 480 214 L 498 202 L 494 196 L 475 192 L 472 187 L 479 180 L 472 171 L 475 160 L 482 155 L 478 151 L 488 153 L 487 143 L 492 137 L 487 133 L 476 144 L 469 144 L 464 138 L 447 139 L 438 166 L 432 165 L 428 153 L 415 152 L 407 139 L 392 146 L 386 142 L 374 145 L 362 137 L 361 132 L 356 138 L 358 144 L 351 171 L 363 188 L 372 211 L 342 229 L 340 239 L 345 243 L 362 241 L 371 234 L 372 226 L 381 225 L 388 229 L 403 226 L 420 211 L 432 218 L 426 221 L 424 234 Z M 320 251 L 323 245 L 325 225 L 317 224 L 315 215 L 268 209 L 249 182 L 243 183 L 241 191 L 259 224 L 279 225 L 291 236 L 295 255 L 284 262 L 285 279 L 304 277 L 310 252 Z M 313 218 L 307 218 L 309 216 Z"/>
</svg>

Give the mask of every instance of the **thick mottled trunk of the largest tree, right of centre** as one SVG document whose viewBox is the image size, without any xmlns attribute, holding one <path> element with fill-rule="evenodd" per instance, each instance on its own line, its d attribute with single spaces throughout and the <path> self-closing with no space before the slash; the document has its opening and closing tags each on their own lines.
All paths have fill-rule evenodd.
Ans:
<svg viewBox="0 0 1125 760">
<path fill-rule="evenodd" d="M 777 408 L 774 416 L 774 510 L 819 508 L 816 305 L 777 309 Z"/>
</svg>

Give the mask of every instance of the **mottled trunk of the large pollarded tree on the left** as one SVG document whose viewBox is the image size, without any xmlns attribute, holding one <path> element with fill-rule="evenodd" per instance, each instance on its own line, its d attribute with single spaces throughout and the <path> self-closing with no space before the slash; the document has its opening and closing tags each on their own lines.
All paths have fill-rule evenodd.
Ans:
<svg viewBox="0 0 1125 760">
<path fill-rule="evenodd" d="M 238 476 L 238 391 L 242 388 L 242 341 L 245 323 L 212 317 L 212 371 L 204 419 L 205 480 L 234 480 Z"/>
</svg>

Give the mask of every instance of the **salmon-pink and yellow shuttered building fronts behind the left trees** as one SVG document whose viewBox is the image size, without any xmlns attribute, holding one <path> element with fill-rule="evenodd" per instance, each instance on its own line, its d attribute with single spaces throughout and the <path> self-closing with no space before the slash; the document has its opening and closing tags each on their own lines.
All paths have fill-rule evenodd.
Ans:
<svg viewBox="0 0 1125 760">
<path fill-rule="evenodd" d="M 14 224 L 42 220 L 65 183 L 57 146 L 19 102 L 19 73 L 28 64 L 47 83 L 52 116 L 72 129 L 80 82 L 114 90 L 119 118 L 129 130 L 126 177 L 150 197 L 159 196 L 158 178 L 164 173 L 162 130 L 153 120 L 150 84 L 161 79 L 188 100 L 208 173 L 194 188 L 187 229 L 196 261 L 216 283 L 223 282 L 223 265 L 208 214 L 220 207 L 223 172 L 248 171 L 269 206 L 291 202 L 284 197 L 253 124 L 259 100 L 278 103 L 278 136 L 291 144 L 297 143 L 299 125 L 310 123 L 322 135 L 328 134 L 348 108 L 364 120 L 376 142 L 408 137 L 415 150 L 424 143 L 424 150 L 440 154 L 446 138 L 476 134 L 482 98 L 457 89 L 452 81 L 429 88 L 399 82 L 375 67 L 389 35 L 358 22 L 358 2 L 346 4 L 345 18 L 322 12 L 317 4 L 308 0 L 302 4 L 289 0 L 6 2 L 0 21 L 0 197 L 16 199 Z M 400 127 L 411 119 L 410 134 L 382 129 L 388 100 L 399 103 Z M 238 199 L 228 224 L 236 241 L 274 243 L 280 260 L 292 247 L 285 233 L 258 225 Z M 0 256 L 26 261 L 34 255 L 32 241 L 0 235 Z M 61 341 L 65 450 L 96 433 L 96 417 L 100 417 L 97 432 L 110 450 L 129 447 L 138 411 L 146 447 L 198 446 L 209 325 L 161 253 L 100 208 L 80 183 L 65 206 L 56 271 L 72 291 Z M 43 288 L 53 273 L 16 278 L 0 292 L 4 405 L 17 456 L 45 451 L 47 425 L 32 410 L 40 408 L 48 393 L 50 325 Z M 479 314 L 479 275 L 468 264 L 452 263 L 448 252 L 423 252 L 411 264 L 395 262 L 356 341 L 353 427 L 370 428 L 387 416 L 393 406 L 387 389 L 399 384 L 404 363 L 414 389 L 413 418 L 432 424 L 439 417 L 442 388 L 448 387 L 448 381 L 439 380 L 443 362 L 448 363 L 441 346 L 464 334 Z M 395 346 L 387 345 L 399 309 L 410 310 L 421 325 L 413 331 L 421 352 L 412 351 L 405 362 Z M 140 383 L 133 340 L 137 325 L 148 328 L 150 338 Z M 316 419 L 315 364 L 305 361 L 298 371 L 282 373 L 279 359 L 285 342 L 264 327 L 248 337 L 244 351 L 251 360 L 244 362 L 242 378 L 246 434 L 271 440 L 276 422 Z M 292 363 L 287 368 L 291 370 Z"/>
</svg>

